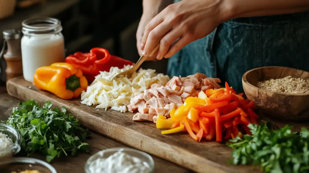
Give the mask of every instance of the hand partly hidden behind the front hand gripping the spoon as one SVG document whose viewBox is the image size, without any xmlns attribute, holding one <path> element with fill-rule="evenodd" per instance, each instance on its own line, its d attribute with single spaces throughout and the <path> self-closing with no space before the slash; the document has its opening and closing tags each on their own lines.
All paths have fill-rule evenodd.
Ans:
<svg viewBox="0 0 309 173">
<path fill-rule="evenodd" d="M 142 52 L 143 52 L 143 50 L 141 49 L 142 47 L 141 43 L 142 43 L 142 37 L 145 32 L 145 27 L 150 22 L 150 20 L 153 19 L 154 17 L 155 17 L 154 14 L 143 13 L 141 20 L 139 21 L 138 28 L 136 31 L 136 47 L 137 47 L 139 56 L 142 56 Z M 148 57 L 147 61 L 156 60 L 156 56 L 157 56 L 157 53 L 155 53 L 152 57 Z"/>
</svg>

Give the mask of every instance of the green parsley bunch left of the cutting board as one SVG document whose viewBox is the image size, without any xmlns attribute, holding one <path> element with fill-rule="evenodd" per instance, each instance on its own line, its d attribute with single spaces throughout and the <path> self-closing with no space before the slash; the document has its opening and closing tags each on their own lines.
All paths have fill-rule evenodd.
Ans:
<svg viewBox="0 0 309 173">
<path fill-rule="evenodd" d="M 34 100 L 19 102 L 18 105 L 4 123 L 20 132 L 21 146 L 28 156 L 40 151 L 50 162 L 62 154 L 75 155 L 77 150 L 89 152 L 89 144 L 84 143 L 88 130 L 83 129 L 64 106 L 61 110 L 52 109 L 51 102 L 47 101 L 41 108 Z"/>
</svg>

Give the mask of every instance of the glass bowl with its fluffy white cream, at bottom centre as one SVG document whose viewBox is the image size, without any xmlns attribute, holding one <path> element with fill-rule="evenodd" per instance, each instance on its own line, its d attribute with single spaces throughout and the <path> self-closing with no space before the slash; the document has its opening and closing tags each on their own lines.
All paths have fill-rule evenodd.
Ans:
<svg viewBox="0 0 309 173">
<path fill-rule="evenodd" d="M 86 173 L 152 173 L 152 157 L 131 148 L 110 148 L 92 155 L 85 163 Z"/>
</svg>

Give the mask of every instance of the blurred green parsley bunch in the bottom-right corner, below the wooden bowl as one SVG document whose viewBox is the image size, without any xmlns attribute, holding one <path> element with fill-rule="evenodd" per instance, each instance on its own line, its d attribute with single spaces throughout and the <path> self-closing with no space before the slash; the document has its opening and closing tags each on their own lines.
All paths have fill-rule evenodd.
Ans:
<svg viewBox="0 0 309 173">
<path fill-rule="evenodd" d="M 261 165 L 263 171 L 271 173 L 309 172 L 309 131 L 292 132 L 292 126 L 270 130 L 267 124 L 249 124 L 252 133 L 237 136 L 227 145 L 234 148 L 234 164 Z"/>
</svg>

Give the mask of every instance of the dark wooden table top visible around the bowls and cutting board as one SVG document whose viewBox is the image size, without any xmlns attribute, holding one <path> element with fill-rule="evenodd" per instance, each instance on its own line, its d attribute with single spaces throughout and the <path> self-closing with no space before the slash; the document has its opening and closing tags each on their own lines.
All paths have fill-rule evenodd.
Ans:
<svg viewBox="0 0 309 173">
<path fill-rule="evenodd" d="M 7 94 L 5 87 L 0 87 L 0 120 L 6 120 L 11 112 L 12 108 L 15 107 L 20 100 L 10 96 Z M 91 152 L 90 153 L 79 153 L 77 156 L 68 156 L 54 159 L 52 161 L 53 167 L 57 170 L 58 173 L 66 173 L 66 172 L 74 172 L 74 173 L 83 173 L 84 172 L 84 164 L 87 159 L 94 153 L 104 150 L 107 148 L 115 148 L 115 147 L 129 147 L 120 142 L 117 142 L 113 139 L 101 136 L 99 134 L 91 133 L 91 137 L 86 141 L 90 145 Z M 26 153 L 22 151 L 17 154 L 17 156 L 27 156 Z M 40 153 L 34 153 L 30 157 L 45 160 L 45 157 Z M 155 172 L 193 172 L 187 170 L 183 167 L 180 167 L 174 163 L 166 161 L 164 159 L 160 159 L 158 157 L 152 156 L 155 161 Z"/>
</svg>

